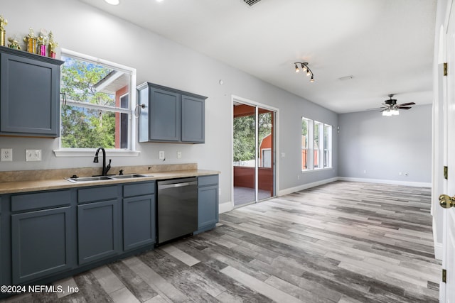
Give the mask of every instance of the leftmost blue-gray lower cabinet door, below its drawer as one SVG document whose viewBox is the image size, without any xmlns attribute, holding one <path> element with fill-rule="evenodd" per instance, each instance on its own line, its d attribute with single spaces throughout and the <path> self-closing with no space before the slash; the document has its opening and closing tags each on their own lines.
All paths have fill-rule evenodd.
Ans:
<svg viewBox="0 0 455 303">
<path fill-rule="evenodd" d="M 70 206 L 11 215 L 13 285 L 73 267 Z"/>
</svg>

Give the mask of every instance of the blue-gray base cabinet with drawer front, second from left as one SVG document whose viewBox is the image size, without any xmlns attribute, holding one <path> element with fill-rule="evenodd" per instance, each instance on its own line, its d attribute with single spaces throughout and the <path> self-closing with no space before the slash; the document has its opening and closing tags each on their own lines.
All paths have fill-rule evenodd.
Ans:
<svg viewBox="0 0 455 303">
<path fill-rule="evenodd" d="M 117 186 L 79 189 L 77 194 L 77 252 L 80 265 L 120 253 Z"/>
</svg>

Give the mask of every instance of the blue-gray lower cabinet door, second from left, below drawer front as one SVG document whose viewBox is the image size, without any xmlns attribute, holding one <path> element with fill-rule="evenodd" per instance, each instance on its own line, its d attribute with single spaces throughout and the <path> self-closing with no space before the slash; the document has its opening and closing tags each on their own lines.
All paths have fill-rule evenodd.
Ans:
<svg viewBox="0 0 455 303">
<path fill-rule="evenodd" d="M 120 252 L 118 208 L 118 199 L 77 205 L 80 265 Z"/>
</svg>

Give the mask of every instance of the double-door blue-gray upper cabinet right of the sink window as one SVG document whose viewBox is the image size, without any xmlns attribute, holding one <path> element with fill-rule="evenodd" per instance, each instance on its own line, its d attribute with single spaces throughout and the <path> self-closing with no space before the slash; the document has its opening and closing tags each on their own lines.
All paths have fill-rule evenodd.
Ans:
<svg viewBox="0 0 455 303">
<path fill-rule="evenodd" d="M 205 142 L 205 99 L 149 82 L 139 91 L 139 142 Z"/>
</svg>

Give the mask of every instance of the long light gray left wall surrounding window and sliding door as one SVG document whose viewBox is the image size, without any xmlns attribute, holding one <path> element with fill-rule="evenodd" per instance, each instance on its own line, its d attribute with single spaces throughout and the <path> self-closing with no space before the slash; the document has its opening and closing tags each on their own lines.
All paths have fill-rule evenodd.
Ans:
<svg viewBox="0 0 455 303">
<path fill-rule="evenodd" d="M 1 13 L 9 21 L 8 37 L 22 38 L 29 27 L 36 32 L 45 28 L 53 31 L 60 48 L 136 68 L 137 84 L 154 82 L 208 97 L 205 144 L 138 143 L 139 157 L 112 157 L 113 166 L 197 162 L 202 169 L 221 171 L 220 202 L 230 202 L 232 160 L 225 141 L 232 136 L 231 96 L 236 95 L 279 109 L 278 152 L 286 156 L 279 158 L 278 190 L 337 176 L 336 168 L 304 175 L 300 170 L 301 116 L 336 126 L 338 115 L 332 111 L 76 0 L 4 2 Z M 224 85 L 218 84 L 220 79 Z M 337 167 L 337 147 L 335 131 L 333 167 Z M 0 148 L 14 149 L 14 161 L 1 162 L 0 171 L 99 166 L 92 157 L 55 158 L 58 139 L 0 137 Z M 43 150 L 43 161 L 25 162 L 26 148 Z M 158 150 L 166 152 L 166 162 L 158 160 Z M 182 159 L 176 159 L 177 150 Z"/>
</svg>

